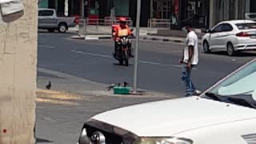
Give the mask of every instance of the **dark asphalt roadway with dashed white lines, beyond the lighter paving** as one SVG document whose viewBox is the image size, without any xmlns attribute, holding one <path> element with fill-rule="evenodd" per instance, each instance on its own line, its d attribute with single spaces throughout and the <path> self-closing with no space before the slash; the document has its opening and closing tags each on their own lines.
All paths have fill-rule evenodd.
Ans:
<svg viewBox="0 0 256 144">
<path fill-rule="evenodd" d="M 38 40 L 38 67 L 71 74 L 105 85 L 133 82 L 133 62 L 129 67 L 118 66 L 111 56 L 110 41 L 74 41 L 69 34 L 40 33 Z M 180 80 L 183 45 L 176 43 L 141 42 L 138 87 L 168 94 L 184 94 Z M 200 64 L 193 79 L 200 90 L 256 56 L 244 53 L 230 58 L 225 53 L 200 54 Z M 40 74 L 40 73 L 39 73 Z"/>
</svg>

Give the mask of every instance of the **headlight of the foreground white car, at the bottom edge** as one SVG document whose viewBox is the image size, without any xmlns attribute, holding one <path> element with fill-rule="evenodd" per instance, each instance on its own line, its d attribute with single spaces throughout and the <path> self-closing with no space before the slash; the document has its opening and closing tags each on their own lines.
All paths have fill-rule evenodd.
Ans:
<svg viewBox="0 0 256 144">
<path fill-rule="evenodd" d="M 193 141 L 186 138 L 140 138 L 134 144 L 192 144 Z"/>
</svg>

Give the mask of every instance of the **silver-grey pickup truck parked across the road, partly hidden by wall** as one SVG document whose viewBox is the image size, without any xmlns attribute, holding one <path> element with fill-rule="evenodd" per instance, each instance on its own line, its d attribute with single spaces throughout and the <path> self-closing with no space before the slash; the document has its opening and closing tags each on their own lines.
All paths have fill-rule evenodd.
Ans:
<svg viewBox="0 0 256 144">
<path fill-rule="evenodd" d="M 54 9 L 38 10 L 38 29 L 45 29 L 49 32 L 58 30 L 65 33 L 69 27 L 76 25 L 74 17 L 58 17 Z"/>
</svg>

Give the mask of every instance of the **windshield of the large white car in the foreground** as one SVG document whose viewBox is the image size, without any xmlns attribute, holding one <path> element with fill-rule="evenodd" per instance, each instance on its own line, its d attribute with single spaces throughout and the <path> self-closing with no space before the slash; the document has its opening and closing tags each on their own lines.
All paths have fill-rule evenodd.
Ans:
<svg viewBox="0 0 256 144">
<path fill-rule="evenodd" d="M 209 90 L 202 98 L 256 108 L 256 59 Z"/>
</svg>

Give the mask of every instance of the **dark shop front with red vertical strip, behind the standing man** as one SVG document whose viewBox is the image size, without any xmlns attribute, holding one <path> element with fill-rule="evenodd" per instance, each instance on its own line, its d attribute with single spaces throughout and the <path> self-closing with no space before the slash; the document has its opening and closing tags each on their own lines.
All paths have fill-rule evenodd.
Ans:
<svg viewBox="0 0 256 144">
<path fill-rule="evenodd" d="M 180 29 L 183 21 L 196 28 L 209 25 L 210 0 L 150 0 L 150 18 L 168 20 L 171 29 Z"/>
</svg>

